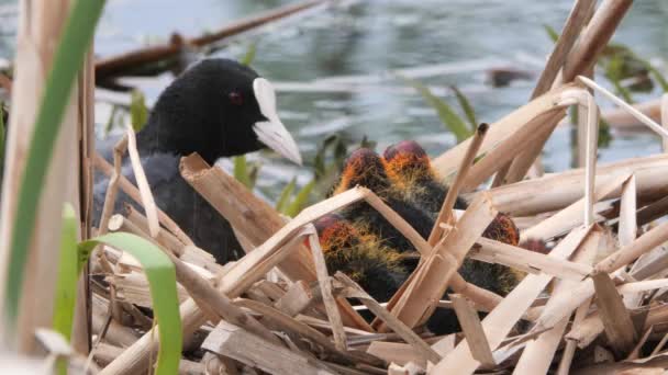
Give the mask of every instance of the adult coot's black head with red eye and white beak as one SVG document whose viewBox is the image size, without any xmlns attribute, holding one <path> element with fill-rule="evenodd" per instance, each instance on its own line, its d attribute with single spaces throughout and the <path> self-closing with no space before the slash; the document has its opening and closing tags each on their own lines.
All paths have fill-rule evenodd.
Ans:
<svg viewBox="0 0 668 375">
<path fill-rule="evenodd" d="M 178 77 L 158 98 L 138 134 L 145 151 L 220 157 L 269 147 L 301 163 L 299 148 L 276 112 L 271 83 L 229 59 L 205 59 Z"/>
</svg>

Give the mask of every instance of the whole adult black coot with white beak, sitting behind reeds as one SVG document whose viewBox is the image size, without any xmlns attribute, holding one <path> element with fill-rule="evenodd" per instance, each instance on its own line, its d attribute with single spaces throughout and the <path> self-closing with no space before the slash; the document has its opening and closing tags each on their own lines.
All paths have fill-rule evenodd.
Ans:
<svg viewBox="0 0 668 375">
<path fill-rule="evenodd" d="M 113 144 L 115 140 L 110 140 L 98 148 L 108 160 Z M 181 178 L 179 159 L 198 152 L 213 164 L 221 157 L 264 147 L 301 163 L 297 144 L 278 118 L 269 81 L 229 59 L 205 59 L 185 71 L 159 95 L 148 122 L 137 134 L 142 164 L 157 206 L 219 263 L 238 258 L 243 253 L 241 246 L 229 223 Z M 123 174 L 134 182 L 129 161 Z M 108 181 L 97 173 L 97 220 Z M 119 192 L 115 211 L 123 203 L 133 201 Z"/>
</svg>

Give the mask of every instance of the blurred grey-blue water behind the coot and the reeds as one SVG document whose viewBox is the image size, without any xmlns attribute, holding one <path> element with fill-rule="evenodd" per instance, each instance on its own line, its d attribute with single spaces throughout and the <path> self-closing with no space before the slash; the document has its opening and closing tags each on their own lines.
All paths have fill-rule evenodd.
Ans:
<svg viewBox="0 0 668 375">
<path fill-rule="evenodd" d="M 96 37 L 96 53 L 109 56 L 133 49 L 164 41 L 175 31 L 199 35 L 287 2 L 110 0 Z M 8 3 L 12 1 L 0 0 L 0 57 L 5 58 L 12 54 L 12 37 L 1 36 L 12 27 L 13 20 L 3 13 Z M 257 42 L 253 65 L 286 89 L 278 98 L 281 115 L 307 160 L 312 158 L 316 144 L 333 132 L 345 132 L 355 139 L 367 135 L 379 141 L 380 150 L 400 139 L 414 138 L 430 154 L 437 155 L 452 147 L 455 139 L 424 101 L 402 89 L 401 82 L 382 75 L 380 79 L 354 77 L 344 81 L 352 90 L 338 84 L 334 91 L 303 91 L 302 84 L 301 92 L 296 91 L 300 88 L 296 83 L 453 64 L 454 73 L 427 72 L 420 80 L 441 89 L 457 84 L 467 93 L 479 121 L 491 123 L 525 103 L 534 83 L 516 81 L 508 88 L 491 89 L 486 83 L 485 69 L 505 66 L 538 73 L 552 49 L 543 25 L 560 30 L 571 4 L 572 0 L 358 1 L 242 36 L 220 55 L 241 57 L 250 42 Z M 667 16 L 667 1 L 636 1 L 614 39 L 660 66 L 668 54 L 668 29 L 664 26 Z M 330 80 L 329 84 L 332 82 L 335 81 Z M 368 83 L 361 84 L 365 82 Z M 142 87 L 154 98 L 160 84 Z M 99 121 L 103 123 L 105 118 Z M 617 160 L 658 150 L 659 141 L 654 135 L 615 134 L 610 148 L 601 150 L 601 159 Z M 569 167 L 567 127 L 557 129 L 549 140 L 545 164 L 552 171 Z M 280 160 L 268 161 L 264 173 L 270 179 L 266 183 L 289 180 L 298 171 L 287 167 Z M 309 174 L 308 167 L 299 171 L 303 179 Z"/>
</svg>

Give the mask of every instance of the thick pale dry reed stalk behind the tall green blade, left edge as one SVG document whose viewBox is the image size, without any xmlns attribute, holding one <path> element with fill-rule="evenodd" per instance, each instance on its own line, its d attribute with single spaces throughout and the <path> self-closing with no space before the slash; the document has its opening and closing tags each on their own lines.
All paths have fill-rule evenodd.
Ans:
<svg viewBox="0 0 668 375">
<path fill-rule="evenodd" d="M 11 98 L 12 112 L 5 144 L 1 194 L 4 198 L 0 213 L 0 264 L 9 264 L 16 198 L 33 136 L 35 115 L 41 104 L 38 99 L 42 98 L 45 79 L 52 66 L 54 46 L 58 44 L 67 20 L 68 4 L 69 1 L 66 0 L 21 2 L 16 69 Z M 40 352 L 34 340 L 35 329 L 49 327 L 52 323 L 57 277 L 57 268 L 53 265 L 58 260 L 58 252 L 53 251 L 53 245 L 59 241 L 64 202 L 71 202 L 77 206 L 80 203 L 80 173 L 78 168 L 73 168 L 73 160 L 76 160 L 77 166 L 80 163 L 78 135 L 81 133 L 82 124 L 79 123 L 78 104 L 82 104 L 82 101 L 79 101 L 79 87 L 75 86 L 53 154 L 49 156 L 51 167 L 46 172 L 43 193 L 35 213 L 34 235 L 23 271 L 26 276 L 21 291 L 16 327 L 0 326 L 0 334 L 23 353 Z M 2 270 L 1 273 L 0 304 L 3 305 L 7 270 Z M 4 321 L 0 322 L 3 323 Z M 7 336 L 10 331 L 14 332 L 13 338 Z"/>
</svg>

